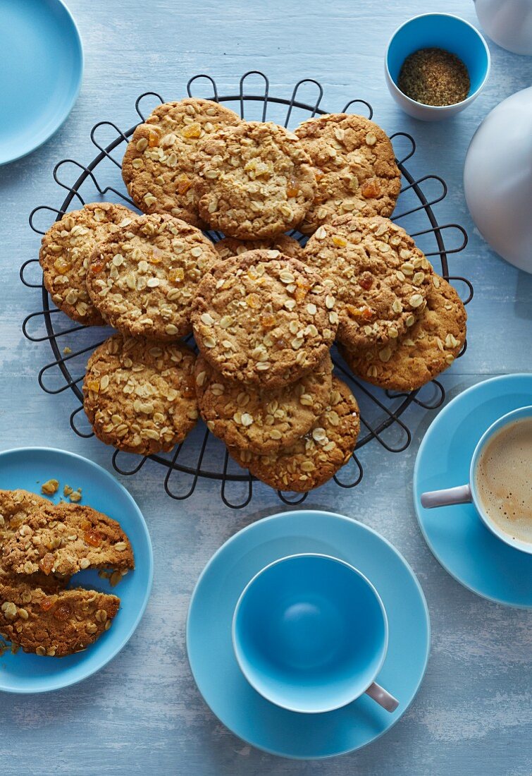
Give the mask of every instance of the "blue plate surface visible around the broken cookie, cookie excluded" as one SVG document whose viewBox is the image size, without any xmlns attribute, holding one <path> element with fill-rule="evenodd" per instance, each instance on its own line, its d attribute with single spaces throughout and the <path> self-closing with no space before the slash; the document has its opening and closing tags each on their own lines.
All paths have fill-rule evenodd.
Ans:
<svg viewBox="0 0 532 776">
<path fill-rule="evenodd" d="M 109 473 L 81 456 L 51 448 L 19 448 L 0 453 L 0 488 L 23 488 L 40 493 L 40 486 L 51 477 L 60 481 L 54 497 L 59 501 L 64 484 L 81 487 L 82 504 L 109 514 L 122 525 L 135 553 L 135 570 L 116 587 L 98 577 L 95 571 L 82 571 L 72 584 L 96 587 L 119 596 L 119 613 L 109 631 L 85 652 L 61 658 L 16 655 L 6 652 L 0 658 L 0 690 L 7 692 L 46 692 L 59 690 L 95 674 L 126 646 L 140 622 L 150 598 L 153 556 L 150 535 L 133 498 Z"/>
</svg>

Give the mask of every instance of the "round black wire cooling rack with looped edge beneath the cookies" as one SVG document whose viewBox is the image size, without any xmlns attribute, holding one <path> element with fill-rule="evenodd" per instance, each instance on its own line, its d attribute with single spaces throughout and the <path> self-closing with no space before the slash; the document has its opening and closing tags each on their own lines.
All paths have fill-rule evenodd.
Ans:
<svg viewBox="0 0 532 776">
<path fill-rule="evenodd" d="M 247 83 L 257 79 L 261 82 L 261 89 L 257 93 L 248 94 Z M 299 81 L 293 88 L 289 99 L 272 97 L 268 78 L 259 71 L 247 72 L 240 78 L 240 88 L 236 95 L 220 96 L 216 81 L 209 75 L 201 74 L 188 81 L 188 96 L 200 96 L 198 94 L 192 95 L 192 87 L 199 87 L 199 85 L 202 85 L 202 92 L 205 90 L 208 92 L 201 96 L 214 99 L 216 102 L 229 103 L 230 107 L 240 112 L 243 119 L 252 117 L 262 121 L 274 120 L 284 126 L 288 126 L 288 124 L 295 126 L 304 119 L 327 113 L 320 108 L 323 87 L 312 78 Z M 309 90 L 315 95 L 313 102 L 301 102 L 300 93 L 309 92 Z M 147 101 L 150 101 L 153 107 L 154 102 L 164 102 L 164 99 L 157 92 L 145 92 L 140 95 L 135 103 L 136 113 L 140 117 L 140 121 L 143 121 L 146 115 L 146 111 L 143 111 L 141 106 Z M 367 113 L 368 118 L 371 119 L 373 110 L 369 103 L 363 99 L 352 99 L 351 102 L 347 102 L 342 112 L 358 112 L 360 110 Z M 250 113 L 254 113 L 254 116 L 250 116 Z M 59 220 L 67 210 L 82 206 L 85 202 L 97 199 L 112 201 L 116 198 L 123 200 L 136 210 L 123 188 L 119 175 L 121 158 L 116 159 L 112 153 L 116 149 L 125 150 L 128 138 L 133 134 L 135 127 L 136 124 L 123 132 L 115 123 L 98 122 L 91 131 L 92 143 L 98 149 L 95 158 L 88 165 L 83 165 L 74 159 L 64 159 L 58 162 L 54 168 L 54 180 L 57 185 L 67 190 L 67 196 L 59 209 L 41 205 L 32 211 L 29 216 L 29 224 L 37 234 L 44 234 L 44 230 L 39 229 L 35 223 L 37 214 L 43 213 L 43 211 L 47 213 L 47 216 L 51 213 L 54 220 Z M 104 131 L 112 133 L 112 140 L 107 144 L 98 140 L 98 136 L 101 136 Z M 396 148 L 397 165 L 404 180 L 396 209 L 399 214 L 392 215 L 392 220 L 401 222 L 402 227 L 416 238 L 416 243 L 420 244 L 425 255 L 429 258 L 434 257 L 433 261 L 437 259 L 440 262 L 441 274 L 446 279 L 465 286 L 463 295 L 465 295 L 464 302 L 467 304 L 473 296 L 472 284 L 463 277 L 449 275 L 447 263 L 448 254 L 458 253 L 465 248 L 468 241 L 467 234 L 463 227 L 457 223 L 439 224 L 433 210 L 433 206 L 440 203 L 447 195 L 447 185 L 439 175 L 415 177 L 406 168 L 406 161 L 409 161 L 416 151 L 413 137 L 405 132 L 397 132 L 391 136 L 391 139 L 394 148 Z M 398 151 L 397 147 L 403 147 L 403 151 Z M 67 185 L 60 178 L 60 173 L 65 166 L 74 168 L 78 175 L 71 185 Z M 104 180 L 105 184 L 102 183 Z M 434 195 L 427 195 L 426 189 L 434 189 L 434 185 L 437 187 L 437 192 Z M 49 226 L 48 222 L 46 228 Z M 459 244 L 453 248 L 447 248 L 444 243 L 444 233 L 453 231 L 458 233 Z M 222 237 L 216 232 L 208 234 L 213 241 Z M 295 237 L 301 241 L 305 239 L 300 234 L 294 232 L 292 234 L 295 234 Z M 71 412 L 71 428 L 79 436 L 88 438 L 92 436 L 92 431 L 86 423 L 85 415 L 81 412 L 83 394 L 80 384 L 85 375 L 85 361 L 88 355 L 105 340 L 109 332 L 100 327 L 71 325 L 71 321 L 60 310 L 50 306 L 50 298 L 44 288 L 42 275 L 33 279 L 28 276 L 32 267 L 34 270 L 38 269 L 37 258 L 30 258 L 22 265 L 20 278 L 29 288 L 41 290 L 42 306 L 40 310 L 26 317 L 22 324 L 22 331 L 30 341 L 49 342 L 54 354 L 54 360 L 40 369 L 39 384 L 46 393 L 50 394 L 63 393 L 67 389 L 72 391 L 77 400 L 77 406 Z M 44 324 L 45 334 L 42 333 L 42 324 Z M 65 324 L 67 325 L 65 326 Z M 37 331 L 33 331 L 35 326 Z M 65 343 L 74 344 L 74 347 L 64 346 Z M 464 345 L 460 355 L 465 352 L 466 346 Z M 333 350 L 333 362 L 337 372 L 352 386 L 354 395 L 361 407 L 361 435 L 356 450 L 351 461 L 334 477 L 340 487 L 352 488 L 360 483 L 364 473 L 356 451 L 375 439 L 389 452 L 402 452 L 411 441 L 409 428 L 402 420 L 402 415 L 406 409 L 410 404 L 415 403 L 427 410 L 435 410 L 443 403 L 445 393 L 443 386 L 437 380 L 434 380 L 429 386 L 424 386 L 423 389 L 411 393 L 384 392 L 355 379 L 335 350 Z M 74 376 L 74 369 L 78 369 L 80 373 Z M 59 386 L 56 385 L 57 376 L 59 376 Z M 54 382 L 54 386 L 49 384 L 50 380 Z M 80 427 L 84 419 L 85 429 Z M 182 500 L 191 496 L 199 477 L 216 480 L 220 483 L 220 496 L 228 507 L 245 507 L 253 495 L 254 478 L 233 464 L 224 445 L 201 424 L 198 424 L 195 431 L 170 454 L 149 457 L 166 469 L 164 490 L 174 499 Z M 120 474 L 133 475 L 140 471 L 147 460 L 146 457 L 140 457 L 140 460 L 137 460 L 138 458 L 139 456 L 131 456 L 128 453 L 115 450 L 112 455 L 112 466 Z M 126 466 L 122 459 L 127 459 L 130 466 Z M 132 462 L 133 466 L 131 466 Z M 237 490 L 231 495 L 229 493 L 230 483 L 240 483 L 240 485 L 231 486 Z M 300 504 L 306 497 L 306 494 L 303 496 L 296 494 L 294 499 L 289 494 L 280 491 L 278 491 L 278 495 L 285 504 Z"/>
</svg>

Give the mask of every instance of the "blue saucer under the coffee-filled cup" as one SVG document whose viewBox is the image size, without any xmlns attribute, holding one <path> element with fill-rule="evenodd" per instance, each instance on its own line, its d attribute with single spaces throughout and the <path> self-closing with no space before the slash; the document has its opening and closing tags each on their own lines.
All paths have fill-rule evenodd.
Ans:
<svg viewBox="0 0 532 776">
<path fill-rule="evenodd" d="M 444 569 L 489 601 L 526 608 L 532 608 L 532 555 L 496 539 L 472 504 L 424 509 L 420 496 L 467 483 L 484 431 L 501 415 L 530 404 L 530 397 L 532 374 L 494 377 L 460 393 L 430 424 L 413 478 L 421 532 Z"/>
</svg>

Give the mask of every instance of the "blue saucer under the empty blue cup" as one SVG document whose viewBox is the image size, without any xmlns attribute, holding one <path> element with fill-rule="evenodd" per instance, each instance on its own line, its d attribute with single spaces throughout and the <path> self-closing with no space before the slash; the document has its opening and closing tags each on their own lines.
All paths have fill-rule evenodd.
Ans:
<svg viewBox="0 0 532 776">
<path fill-rule="evenodd" d="M 378 682 L 399 698 L 396 712 L 385 712 L 365 695 L 333 712 L 288 712 L 254 691 L 240 672 L 231 643 L 240 593 L 268 563 L 297 553 L 343 559 L 375 585 L 389 618 Z M 209 560 L 188 610 L 188 660 L 206 703 L 232 733 L 281 757 L 333 757 L 382 736 L 413 701 L 429 648 L 427 603 L 406 561 L 371 528 L 329 512 L 284 512 L 235 534 Z"/>
</svg>

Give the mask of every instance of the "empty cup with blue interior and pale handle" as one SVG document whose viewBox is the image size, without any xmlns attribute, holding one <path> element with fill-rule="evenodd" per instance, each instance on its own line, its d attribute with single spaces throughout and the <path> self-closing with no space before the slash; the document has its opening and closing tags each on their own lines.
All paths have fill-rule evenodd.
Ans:
<svg viewBox="0 0 532 776">
<path fill-rule="evenodd" d="M 343 560 L 292 555 L 250 580 L 233 616 L 244 676 L 268 701 L 294 712 L 329 712 L 368 692 L 395 711 L 375 677 L 388 620 L 375 587 Z"/>
</svg>

